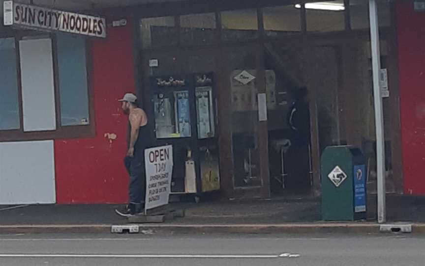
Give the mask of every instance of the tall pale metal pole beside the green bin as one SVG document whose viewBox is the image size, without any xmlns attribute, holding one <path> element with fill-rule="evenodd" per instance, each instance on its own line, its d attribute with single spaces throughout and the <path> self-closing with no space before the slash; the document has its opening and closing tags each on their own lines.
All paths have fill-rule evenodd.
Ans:
<svg viewBox="0 0 425 266">
<path fill-rule="evenodd" d="M 379 47 L 379 25 L 376 0 L 369 0 L 370 45 L 372 51 L 373 98 L 375 105 L 376 128 L 376 173 L 378 192 L 378 223 L 386 222 L 385 212 L 385 152 L 384 152 L 384 119 L 382 111 L 381 86 L 379 74 L 381 71 L 381 54 Z"/>
</svg>

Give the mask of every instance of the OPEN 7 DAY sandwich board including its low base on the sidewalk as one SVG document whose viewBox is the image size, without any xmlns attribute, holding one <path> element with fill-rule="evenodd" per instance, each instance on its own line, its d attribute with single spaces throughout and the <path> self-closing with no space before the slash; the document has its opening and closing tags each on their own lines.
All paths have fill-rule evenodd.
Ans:
<svg viewBox="0 0 425 266">
<path fill-rule="evenodd" d="M 145 172 L 145 213 L 128 217 L 128 221 L 130 223 L 155 223 L 183 217 L 183 210 L 168 207 L 173 174 L 173 146 L 146 149 Z"/>
</svg>

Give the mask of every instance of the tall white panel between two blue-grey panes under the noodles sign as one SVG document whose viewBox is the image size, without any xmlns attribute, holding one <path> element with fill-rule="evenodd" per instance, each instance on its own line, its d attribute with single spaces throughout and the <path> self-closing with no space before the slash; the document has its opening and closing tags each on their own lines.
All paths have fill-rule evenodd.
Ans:
<svg viewBox="0 0 425 266">
<path fill-rule="evenodd" d="M 19 41 L 24 131 L 56 129 L 51 39 Z"/>
</svg>

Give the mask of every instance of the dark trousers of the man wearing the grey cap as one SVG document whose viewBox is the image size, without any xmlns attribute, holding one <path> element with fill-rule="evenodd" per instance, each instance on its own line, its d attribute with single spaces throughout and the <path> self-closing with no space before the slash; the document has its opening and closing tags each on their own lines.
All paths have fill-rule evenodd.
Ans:
<svg viewBox="0 0 425 266">
<path fill-rule="evenodd" d="M 130 177 L 128 187 L 129 203 L 136 205 L 138 208 L 143 208 L 146 195 L 144 152 L 142 150 L 142 155 L 135 153 L 134 157 L 124 158 L 124 165 Z"/>
</svg>

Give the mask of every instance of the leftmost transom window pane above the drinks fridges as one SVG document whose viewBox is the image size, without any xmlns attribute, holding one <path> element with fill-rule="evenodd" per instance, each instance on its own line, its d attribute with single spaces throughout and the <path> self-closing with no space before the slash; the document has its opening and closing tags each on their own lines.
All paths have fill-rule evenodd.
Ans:
<svg viewBox="0 0 425 266">
<path fill-rule="evenodd" d="M 140 20 L 140 36 L 143 48 L 172 46 L 178 43 L 174 17 L 158 17 Z"/>
</svg>

